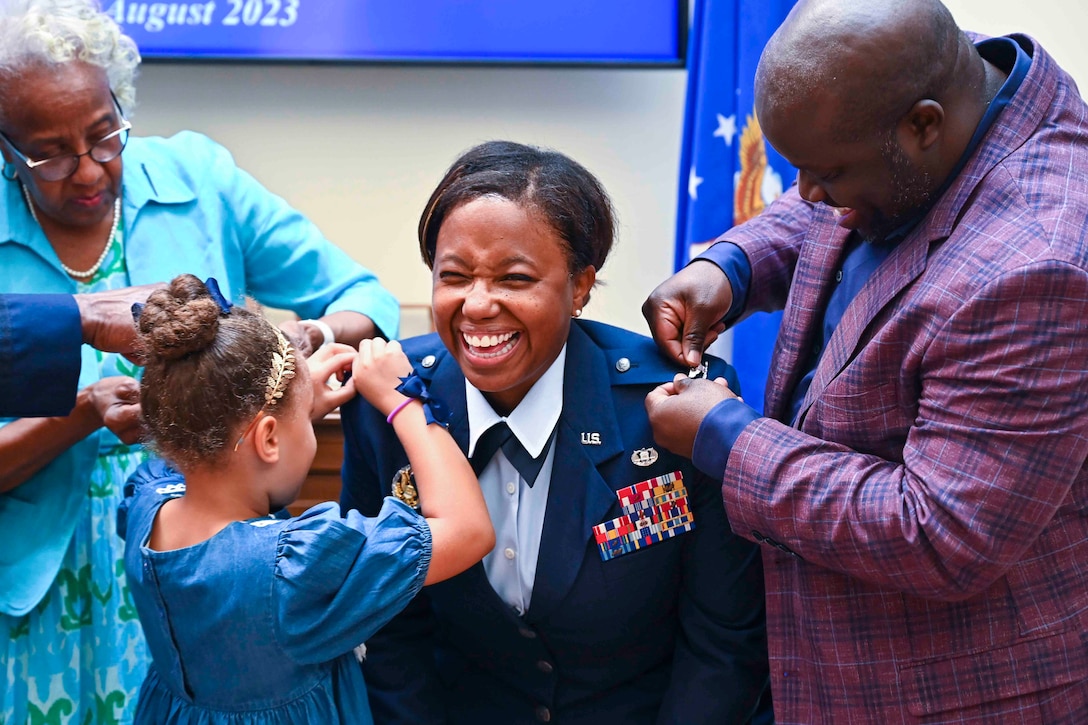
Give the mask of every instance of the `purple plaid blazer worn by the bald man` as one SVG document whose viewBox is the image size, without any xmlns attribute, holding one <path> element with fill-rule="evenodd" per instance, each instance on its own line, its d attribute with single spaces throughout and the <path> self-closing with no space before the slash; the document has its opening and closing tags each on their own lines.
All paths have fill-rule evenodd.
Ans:
<svg viewBox="0 0 1088 725">
<path fill-rule="evenodd" d="M 796 421 L 846 232 L 794 189 L 722 237 L 746 312 L 784 309 L 722 484 L 765 544 L 779 723 L 1088 723 L 1088 108 L 1014 39 L 1012 105 L 846 309 Z"/>
</svg>

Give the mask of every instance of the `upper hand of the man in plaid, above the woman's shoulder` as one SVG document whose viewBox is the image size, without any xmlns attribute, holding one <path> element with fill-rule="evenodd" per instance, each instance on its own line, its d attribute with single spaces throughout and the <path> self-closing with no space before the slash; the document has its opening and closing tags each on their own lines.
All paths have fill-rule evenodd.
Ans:
<svg viewBox="0 0 1088 725">
<path fill-rule="evenodd" d="M 709 261 L 695 261 L 657 285 L 642 305 L 658 347 L 680 365 L 693 368 L 703 351 L 726 329 L 721 318 L 733 304 L 725 272 Z"/>
</svg>

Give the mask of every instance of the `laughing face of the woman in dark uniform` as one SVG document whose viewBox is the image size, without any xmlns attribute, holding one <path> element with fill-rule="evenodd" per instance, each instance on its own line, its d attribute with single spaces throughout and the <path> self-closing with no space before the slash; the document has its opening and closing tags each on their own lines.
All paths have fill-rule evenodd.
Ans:
<svg viewBox="0 0 1088 725">
<path fill-rule="evenodd" d="M 481 197 L 438 230 L 431 306 L 442 342 L 472 385 L 507 415 L 567 342 L 595 280 L 569 271 L 566 244 L 532 209 Z"/>
</svg>

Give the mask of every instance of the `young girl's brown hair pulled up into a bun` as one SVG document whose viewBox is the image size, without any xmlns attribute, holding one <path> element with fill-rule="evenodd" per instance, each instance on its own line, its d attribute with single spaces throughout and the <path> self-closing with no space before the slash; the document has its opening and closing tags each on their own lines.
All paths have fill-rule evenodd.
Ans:
<svg viewBox="0 0 1088 725">
<path fill-rule="evenodd" d="M 242 305 L 224 315 L 191 274 L 152 292 L 136 327 L 146 358 L 140 406 L 152 447 L 182 469 L 213 463 L 264 406 L 280 336 Z M 293 388 L 277 409 L 289 405 Z"/>
</svg>

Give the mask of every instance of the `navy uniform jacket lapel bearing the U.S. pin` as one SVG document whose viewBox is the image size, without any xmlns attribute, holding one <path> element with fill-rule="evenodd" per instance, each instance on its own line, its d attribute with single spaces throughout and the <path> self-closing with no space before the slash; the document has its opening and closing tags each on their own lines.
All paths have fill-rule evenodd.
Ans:
<svg viewBox="0 0 1088 725">
<path fill-rule="evenodd" d="M 601 445 L 581 443 L 582 433 L 591 431 L 601 433 Z M 547 513 L 527 613 L 530 622 L 553 612 L 574 583 L 593 526 L 618 501 L 599 466 L 622 452 L 607 359 L 572 324 L 567 339 L 562 415 L 556 433 Z"/>
</svg>

